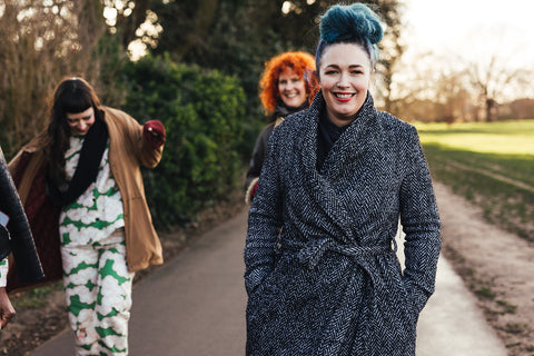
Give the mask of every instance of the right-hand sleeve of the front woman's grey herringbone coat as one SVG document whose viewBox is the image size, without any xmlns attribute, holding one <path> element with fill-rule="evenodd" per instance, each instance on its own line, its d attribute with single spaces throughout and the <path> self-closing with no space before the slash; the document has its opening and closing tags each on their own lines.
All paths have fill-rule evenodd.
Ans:
<svg viewBox="0 0 534 356">
<path fill-rule="evenodd" d="M 415 128 L 412 127 L 405 144 L 409 168 L 399 196 L 400 222 L 406 234 L 404 284 L 419 313 L 434 293 L 441 222 L 428 166 Z"/>
</svg>

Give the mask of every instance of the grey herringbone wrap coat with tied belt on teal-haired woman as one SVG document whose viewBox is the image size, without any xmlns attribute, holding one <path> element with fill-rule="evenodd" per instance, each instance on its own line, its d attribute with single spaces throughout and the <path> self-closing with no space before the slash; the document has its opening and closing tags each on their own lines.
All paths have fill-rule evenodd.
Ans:
<svg viewBox="0 0 534 356">
<path fill-rule="evenodd" d="M 415 355 L 441 247 L 417 132 L 368 95 L 319 172 L 324 105 L 319 92 L 270 140 L 245 247 L 247 355 Z"/>
</svg>

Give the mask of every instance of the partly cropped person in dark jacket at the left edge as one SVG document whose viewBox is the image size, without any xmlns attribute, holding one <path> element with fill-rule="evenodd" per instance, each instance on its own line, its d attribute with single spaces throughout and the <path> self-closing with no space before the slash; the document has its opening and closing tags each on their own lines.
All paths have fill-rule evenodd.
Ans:
<svg viewBox="0 0 534 356">
<path fill-rule="evenodd" d="M 19 279 L 38 281 L 44 277 L 24 209 L 0 148 L 0 329 L 16 315 L 7 291 L 10 254 Z"/>
</svg>

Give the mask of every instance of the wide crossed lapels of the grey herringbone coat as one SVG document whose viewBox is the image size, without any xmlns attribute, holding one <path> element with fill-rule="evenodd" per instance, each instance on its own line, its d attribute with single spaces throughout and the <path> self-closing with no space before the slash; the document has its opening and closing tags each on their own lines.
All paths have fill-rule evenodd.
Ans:
<svg viewBox="0 0 534 356">
<path fill-rule="evenodd" d="M 373 167 L 360 166 L 360 162 L 376 157 L 378 152 L 376 146 L 379 134 L 373 99 L 367 96 L 358 117 L 332 147 L 325 160 L 323 175 L 316 168 L 318 121 L 324 105 L 320 91 L 315 99 L 309 108 L 310 120 L 306 122 L 307 128 L 303 130 L 299 142 L 301 150 L 298 174 L 301 186 L 312 201 L 317 204 L 319 211 L 316 212 L 326 218 L 317 221 L 325 224 L 324 228 L 337 231 L 335 235 L 343 243 L 355 243 L 358 240 L 354 230 L 355 217 L 348 212 L 353 210 L 350 205 L 354 205 L 354 186 L 358 185 L 359 176 L 373 174 Z"/>
</svg>

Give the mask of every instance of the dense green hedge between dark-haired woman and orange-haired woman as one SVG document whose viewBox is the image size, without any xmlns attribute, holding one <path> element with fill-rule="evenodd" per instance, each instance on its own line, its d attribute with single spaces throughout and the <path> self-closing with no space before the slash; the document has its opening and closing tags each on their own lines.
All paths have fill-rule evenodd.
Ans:
<svg viewBox="0 0 534 356">
<path fill-rule="evenodd" d="M 157 228 L 195 218 L 239 184 L 245 95 L 218 71 L 146 57 L 125 68 L 125 111 L 140 122 L 158 119 L 167 129 L 164 158 L 144 170 Z"/>
</svg>

